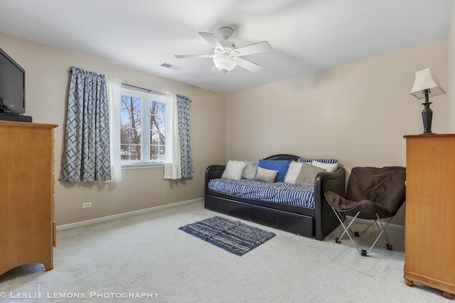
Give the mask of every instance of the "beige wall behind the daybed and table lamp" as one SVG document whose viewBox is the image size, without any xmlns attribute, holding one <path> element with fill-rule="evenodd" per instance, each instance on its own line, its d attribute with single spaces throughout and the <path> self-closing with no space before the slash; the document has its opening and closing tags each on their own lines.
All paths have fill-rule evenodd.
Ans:
<svg viewBox="0 0 455 303">
<path fill-rule="evenodd" d="M 448 87 L 447 42 L 424 45 L 228 94 L 228 159 L 277 153 L 355 166 L 406 165 L 404 135 L 422 133 L 414 73 Z M 431 100 L 432 131 L 449 131 L 448 94 Z M 394 224 L 404 225 L 404 211 Z"/>
</svg>

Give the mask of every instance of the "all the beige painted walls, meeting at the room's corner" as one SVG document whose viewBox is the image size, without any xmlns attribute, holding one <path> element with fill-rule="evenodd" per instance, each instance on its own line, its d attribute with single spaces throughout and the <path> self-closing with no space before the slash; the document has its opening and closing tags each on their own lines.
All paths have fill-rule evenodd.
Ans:
<svg viewBox="0 0 455 303">
<path fill-rule="evenodd" d="M 423 130 L 423 106 L 409 94 L 414 72 L 432 67 L 441 85 L 449 87 L 449 70 L 455 68 L 448 59 L 451 36 L 227 96 L 9 35 L 0 34 L 0 48 L 26 69 L 26 114 L 35 122 L 59 125 L 55 219 L 62 225 L 203 197 L 205 167 L 228 159 L 291 153 L 338 158 L 348 171 L 354 166 L 405 166 L 403 136 Z M 123 181 L 117 183 L 59 182 L 71 66 L 190 97 L 193 180 L 163 180 L 162 168 L 149 168 L 123 170 Z M 455 116 L 449 115 L 449 94 L 431 101 L 432 130 L 449 132 L 449 116 Z M 92 202 L 92 208 L 82 209 L 82 202 Z M 393 223 L 404 224 L 403 210 Z"/>
</svg>

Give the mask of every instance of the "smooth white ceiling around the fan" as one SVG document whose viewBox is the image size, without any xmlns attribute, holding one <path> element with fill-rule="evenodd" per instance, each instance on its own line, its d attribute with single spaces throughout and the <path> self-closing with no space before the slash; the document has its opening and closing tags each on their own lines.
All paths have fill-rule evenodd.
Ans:
<svg viewBox="0 0 455 303">
<path fill-rule="evenodd" d="M 454 0 L 0 0 L 0 32 L 217 92 L 236 92 L 445 40 Z M 233 26 L 264 69 L 208 73 L 199 31 Z M 1 48 L 1 40 L 0 40 Z M 161 67 L 162 63 L 173 68 Z M 95 71 L 96 72 L 96 71 Z"/>
</svg>

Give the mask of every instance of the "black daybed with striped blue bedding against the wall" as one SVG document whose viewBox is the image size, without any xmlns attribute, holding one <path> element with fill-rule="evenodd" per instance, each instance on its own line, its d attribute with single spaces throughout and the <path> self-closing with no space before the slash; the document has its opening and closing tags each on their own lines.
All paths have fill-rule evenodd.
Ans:
<svg viewBox="0 0 455 303">
<path fill-rule="evenodd" d="M 311 163 L 311 160 L 295 155 L 273 155 L 264 160 L 278 160 L 279 162 L 288 160 L 293 165 L 296 165 L 296 162 Z M 323 161 L 324 159 L 318 160 Z M 336 162 L 338 163 L 338 161 Z M 326 238 L 340 224 L 331 206 L 326 202 L 324 193 L 331 191 L 344 197 L 345 170 L 343 167 L 336 168 L 334 172 L 318 172 L 314 178 L 313 187 L 311 184 L 303 186 L 287 182 L 268 183 L 245 179 L 245 177 L 240 180 L 238 178 L 237 180 L 221 178 L 225 167 L 226 165 L 210 165 L 205 170 L 206 209 L 296 233 L 300 236 L 315 237 L 317 240 Z M 291 165 L 289 165 L 289 170 L 290 167 Z M 246 192 L 245 188 L 239 189 L 239 187 L 245 186 Z M 261 192 L 259 195 L 265 192 L 266 196 L 267 194 L 269 196 L 257 199 L 251 192 L 252 187 L 259 188 L 259 192 Z M 291 194 L 292 198 L 284 198 L 283 196 L 287 195 L 286 192 L 289 190 L 301 192 Z"/>
</svg>

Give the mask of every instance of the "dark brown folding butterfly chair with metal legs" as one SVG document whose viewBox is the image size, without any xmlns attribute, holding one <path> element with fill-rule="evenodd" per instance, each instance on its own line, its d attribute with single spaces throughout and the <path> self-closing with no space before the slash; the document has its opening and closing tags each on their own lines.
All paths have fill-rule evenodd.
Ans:
<svg viewBox="0 0 455 303">
<path fill-rule="evenodd" d="M 348 179 L 348 187 L 346 188 L 346 198 L 334 192 L 326 192 L 327 202 L 331 205 L 333 211 L 337 214 L 341 225 L 338 228 L 338 235 L 335 239 L 336 243 L 341 242 L 341 238 L 347 234 L 350 241 L 354 243 L 355 248 L 360 252 L 360 255 L 366 256 L 367 253 L 375 246 L 379 238 L 385 241 L 386 248 L 392 250 L 392 245 L 387 238 L 385 228 L 390 224 L 393 216 L 397 214 L 398 209 L 402 206 L 406 199 L 406 168 L 400 166 L 389 167 L 354 167 Z M 346 216 L 352 216 L 353 219 L 348 222 Z M 382 224 L 381 219 L 387 219 L 385 224 Z M 361 233 L 353 232 L 350 226 L 355 219 L 373 220 Z M 375 224 L 380 233 L 375 239 L 373 245 L 368 250 L 358 248 L 351 233 L 354 236 L 360 236 L 370 226 Z M 340 236 L 341 228 L 344 229 Z"/>
</svg>

